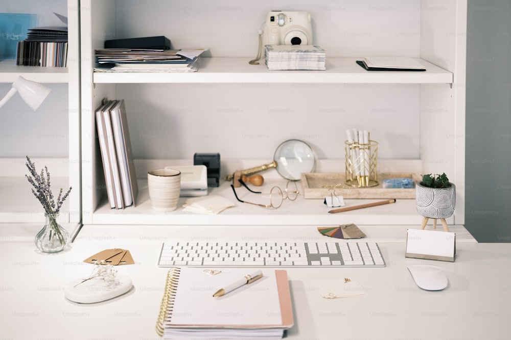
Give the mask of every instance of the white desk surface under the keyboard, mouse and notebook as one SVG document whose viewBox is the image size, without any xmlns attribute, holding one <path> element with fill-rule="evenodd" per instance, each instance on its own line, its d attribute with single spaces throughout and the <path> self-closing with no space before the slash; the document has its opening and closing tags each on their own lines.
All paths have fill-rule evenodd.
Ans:
<svg viewBox="0 0 511 340">
<path fill-rule="evenodd" d="M 280 230 L 278 230 L 280 228 Z M 33 242 L 0 242 L 0 338 L 159 339 L 155 323 L 168 269 L 158 268 L 161 243 L 179 240 L 335 241 L 315 227 L 140 226 L 120 234 L 104 227 L 103 237 L 84 226 L 59 254 L 41 254 Z M 371 228 L 364 231 L 383 236 Z M 292 231 L 292 232 L 291 232 Z M 395 230 L 394 230 L 395 231 Z M 439 231 L 442 232 L 442 231 Z M 401 231 L 399 232 L 401 234 Z M 385 268 L 288 268 L 295 325 L 290 339 L 497 339 L 509 338 L 511 245 L 457 242 L 454 263 L 405 258 L 405 237 L 387 233 L 377 241 Z M 69 281 L 88 277 L 83 259 L 104 249 L 129 249 L 134 265 L 118 266 L 134 287 L 125 295 L 80 305 L 64 298 Z M 449 278 L 444 291 L 428 292 L 413 282 L 406 266 L 441 266 Z M 349 277 L 368 293 L 323 299 L 311 280 Z"/>
</svg>

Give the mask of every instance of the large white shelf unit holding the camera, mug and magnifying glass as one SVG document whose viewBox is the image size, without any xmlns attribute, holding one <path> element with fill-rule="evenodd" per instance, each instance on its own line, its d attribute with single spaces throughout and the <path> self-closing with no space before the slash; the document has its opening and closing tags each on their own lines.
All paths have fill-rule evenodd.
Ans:
<svg viewBox="0 0 511 340">
<path fill-rule="evenodd" d="M 455 215 L 448 223 L 463 225 L 467 2 L 345 0 L 291 6 L 270 1 L 246 8 L 230 1 L 82 1 L 81 54 L 90 61 L 81 67 L 82 84 L 90 84 L 82 87 L 81 96 L 84 225 L 419 224 L 413 200 L 342 216 L 329 215 L 322 202 L 303 197 L 275 211 L 237 203 L 216 216 L 180 208 L 158 214 L 150 208 L 145 174 L 151 168 L 192 164 L 193 152 L 220 152 L 223 177 L 268 163 L 264 155 L 273 152 L 277 141 L 298 138 L 312 141 L 316 171 L 344 171 L 344 130 L 361 126 L 378 129 L 371 130 L 371 137 L 382 141 L 380 170 L 446 172 L 457 188 Z M 326 71 L 268 71 L 264 61 L 248 65 L 255 54 L 255 32 L 268 8 L 275 7 L 311 13 L 314 43 L 327 51 Z M 208 48 L 199 71 L 95 72 L 94 50 L 103 47 L 105 38 L 153 35 L 169 37 L 174 48 Z M 369 55 L 413 57 L 427 71 L 367 72 L 355 61 Z M 105 97 L 127 102 L 139 178 L 136 206 L 119 211 L 106 204 L 94 138 L 94 112 Z M 285 185 L 274 170 L 263 175 L 269 184 Z M 210 194 L 235 200 L 224 181 Z"/>
</svg>

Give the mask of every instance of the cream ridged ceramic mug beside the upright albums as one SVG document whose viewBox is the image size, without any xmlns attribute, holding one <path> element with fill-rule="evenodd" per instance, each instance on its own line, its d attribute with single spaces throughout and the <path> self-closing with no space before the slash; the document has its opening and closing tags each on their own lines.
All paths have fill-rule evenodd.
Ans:
<svg viewBox="0 0 511 340">
<path fill-rule="evenodd" d="M 177 208 L 181 190 L 181 172 L 175 169 L 155 169 L 147 173 L 151 205 L 157 212 L 172 212 Z"/>
</svg>

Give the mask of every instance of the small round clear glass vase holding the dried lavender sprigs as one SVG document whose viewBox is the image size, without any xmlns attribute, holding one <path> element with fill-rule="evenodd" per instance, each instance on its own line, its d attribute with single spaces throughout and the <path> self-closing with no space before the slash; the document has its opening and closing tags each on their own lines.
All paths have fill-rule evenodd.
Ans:
<svg viewBox="0 0 511 340">
<path fill-rule="evenodd" d="M 69 233 L 58 222 L 59 214 L 44 214 L 46 223 L 35 237 L 36 247 L 45 253 L 62 251 L 69 242 Z"/>
</svg>

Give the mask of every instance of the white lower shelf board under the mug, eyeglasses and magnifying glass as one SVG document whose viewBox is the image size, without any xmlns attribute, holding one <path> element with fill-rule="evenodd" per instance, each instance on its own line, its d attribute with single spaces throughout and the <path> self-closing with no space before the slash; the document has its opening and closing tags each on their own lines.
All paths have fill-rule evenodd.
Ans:
<svg viewBox="0 0 511 340">
<path fill-rule="evenodd" d="M 265 187 L 273 185 L 285 187 L 284 179 L 265 180 Z M 298 185 L 299 190 L 301 186 Z M 94 224 L 144 224 L 144 225 L 339 225 L 355 223 L 360 225 L 420 225 L 422 216 L 417 214 L 414 199 L 402 199 L 393 204 L 375 206 L 345 213 L 329 214 L 328 208 L 320 199 L 305 199 L 303 195 L 295 201 L 284 200 L 278 209 L 267 209 L 257 205 L 241 203 L 234 197 L 229 182 L 224 181 L 218 188 L 210 188 L 209 195 L 223 196 L 235 207 L 227 208 L 218 215 L 202 215 L 183 211 L 187 197 L 179 199 L 178 207 L 171 213 L 158 213 L 152 210 L 147 190 L 147 180 L 138 179 L 136 206 L 123 210 L 111 209 L 106 200 L 100 204 L 92 216 Z M 264 189 L 262 190 L 264 191 Z M 237 188 L 240 199 L 267 203 L 261 195 L 249 193 L 245 188 Z M 266 199 L 269 199 L 266 197 Z M 379 201 L 379 199 L 346 199 L 346 205 L 358 205 Z M 453 218 L 447 219 L 453 224 Z"/>
</svg>

